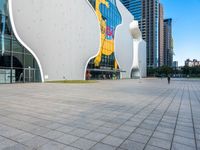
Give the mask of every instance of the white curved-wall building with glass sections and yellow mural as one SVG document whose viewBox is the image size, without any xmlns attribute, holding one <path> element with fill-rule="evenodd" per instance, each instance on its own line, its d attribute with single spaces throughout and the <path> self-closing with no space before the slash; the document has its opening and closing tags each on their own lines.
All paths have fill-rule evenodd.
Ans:
<svg viewBox="0 0 200 150">
<path fill-rule="evenodd" d="M 119 0 L 1 0 L 0 10 L 1 83 L 130 78 L 133 66 L 146 76 L 146 43 Z"/>
</svg>

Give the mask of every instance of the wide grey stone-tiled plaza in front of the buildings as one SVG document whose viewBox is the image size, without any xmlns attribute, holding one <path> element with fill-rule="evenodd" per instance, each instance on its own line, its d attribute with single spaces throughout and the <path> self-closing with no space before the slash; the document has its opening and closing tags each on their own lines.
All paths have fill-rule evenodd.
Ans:
<svg viewBox="0 0 200 150">
<path fill-rule="evenodd" d="M 0 85 L 2 150 L 200 150 L 200 80 Z"/>
</svg>

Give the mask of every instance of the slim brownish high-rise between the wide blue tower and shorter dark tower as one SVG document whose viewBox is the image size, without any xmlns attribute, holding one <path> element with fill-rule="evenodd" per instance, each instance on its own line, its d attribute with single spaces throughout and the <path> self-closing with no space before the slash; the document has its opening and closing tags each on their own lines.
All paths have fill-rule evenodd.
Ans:
<svg viewBox="0 0 200 150">
<path fill-rule="evenodd" d="M 164 65 L 164 13 L 163 5 L 159 4 L 159 42 L 158 42 L 158 66 Z"/>
</svg>

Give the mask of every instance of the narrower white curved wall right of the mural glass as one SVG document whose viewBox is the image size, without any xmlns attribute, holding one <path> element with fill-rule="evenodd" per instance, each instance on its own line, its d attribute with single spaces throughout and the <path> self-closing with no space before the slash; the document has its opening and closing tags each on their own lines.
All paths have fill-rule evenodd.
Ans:
<svg viewBox="0 0 200 150">
<path fill-rule="evenodd" d="M 133 62 L 133 38 L 129 24 L 133 21 L 133 16 L 119 0 L 117 0 L 117 6 L 122 16 L 122 24 L 116 30 L 115 56 L 122 70 L 121 78 L 130 78 Z"/>
</svg>

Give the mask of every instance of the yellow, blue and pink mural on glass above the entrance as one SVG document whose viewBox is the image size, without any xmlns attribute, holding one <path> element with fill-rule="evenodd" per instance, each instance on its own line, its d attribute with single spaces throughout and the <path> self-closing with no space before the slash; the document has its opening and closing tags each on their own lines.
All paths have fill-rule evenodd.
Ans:
<svg viewBox="0 0 200 150">
<path fill-rule="evenodd" d="M 95 66 L 99 66 L 103 55 L 114 57 L 115 30 L 122 19 L 115 0 L 89 0 L 89 2 L 94 7 L 101 26 L 101 50 L 94 59 Z M 115 60 L 114 68 L 117 67 Z"/>
</svg>

